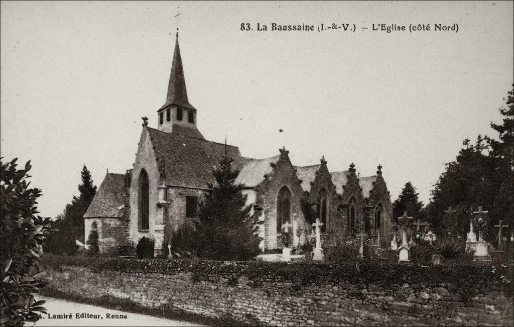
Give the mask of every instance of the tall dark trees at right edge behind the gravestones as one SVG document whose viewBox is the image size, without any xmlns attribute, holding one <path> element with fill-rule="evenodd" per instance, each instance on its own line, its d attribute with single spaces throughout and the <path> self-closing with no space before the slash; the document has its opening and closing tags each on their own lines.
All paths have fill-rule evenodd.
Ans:
<svg viewBox="0 0 514 327">
<path fill-rule="evenodd" d="M 491 222 L 497 224 L 503 220 L 509 225 L 507 235 L 510 235 L 514 224 L 514 84 L 504 100 L 505 105 L 499 109 L 502 123 L 491 122 L 499 139 L 478 135 L 474 142 L 464 140 L 463 149 L 439 176 L 431 192 L 432 201 L 424 209 L 424 215 L 432 224 L 437 226 L 444 211 L 451 206 L 457 210 L 461 232 L 467 232 L 470 209 L 483 206 L 489 211 Z M 489 234 L 492 238 L 497 235 L 496 232 Z"/>
</svg>

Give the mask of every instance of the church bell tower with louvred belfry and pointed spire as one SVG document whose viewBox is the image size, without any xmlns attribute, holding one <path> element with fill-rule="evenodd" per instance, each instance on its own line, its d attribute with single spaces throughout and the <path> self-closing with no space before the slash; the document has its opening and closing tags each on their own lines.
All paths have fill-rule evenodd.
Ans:
<svg viewBox="0 0 514 327">
<path fill-rule="evenodd" d="M 157 111 L 157 123 L 158 130 L 162 132 L 204 138 L 196 128 L 196 108 L 188 100 L 186 79 L 178 47 L 178 32 L 166 103 Z"/>
</svg>

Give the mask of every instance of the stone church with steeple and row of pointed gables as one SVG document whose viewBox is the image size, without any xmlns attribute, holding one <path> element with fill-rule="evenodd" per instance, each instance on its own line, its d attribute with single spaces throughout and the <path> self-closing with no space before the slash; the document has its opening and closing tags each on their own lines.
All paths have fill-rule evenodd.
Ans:
<svg viewBox="0 0 514 327">
<path fill-rule="evenodd" d="M 155 253 L 166 247 L 196 218 L 202 196 L 214 183 L 212 169 L 225 151 L 240 170 L 236 183 L 244 186 L 251 214 L 262 222 L 263 252 L 284 247 L 287 231 L 288 245 L 301 247 L 311 240 L 316 219 L 323 223 L 323 247 L 362 230 L 383 244 L 390 241 L 393 207 L 380 165 L 375 175 L 360 177 L 353 162 L 346 171 L 330 172 L 324 157 L 319 165 L 295 166 L 285 148 L 270 158 L 243 157 L 237 147 L 206 140 L 197 114 L 201 109 L 187 95 L 177 33 L 157 128 L 142 117 L 132 169 L 107 172 L 84 214 L 85 240 L 97 228 L 100 252 L 114 254 L 119 244 L 137 245 L 142 238 L 153 241 Z"/>
</svg>

